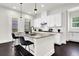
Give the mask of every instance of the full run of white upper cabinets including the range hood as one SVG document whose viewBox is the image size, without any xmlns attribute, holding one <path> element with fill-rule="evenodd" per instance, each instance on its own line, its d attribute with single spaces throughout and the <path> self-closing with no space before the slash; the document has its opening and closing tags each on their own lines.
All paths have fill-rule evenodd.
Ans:
<svg viewBox="0 0 79 59">
<path fill-rule="evenodd" d="M 44 17 L 43 17 L 44 16 Z M 42 15 L 42 17 L 34 20 L 34 27 L 41 27 L 41 24 L 46 23 L 48 27 L 60 27 L 61 26 L 61 13 L 55 13 L 52 15 Z"/>
</svg>

